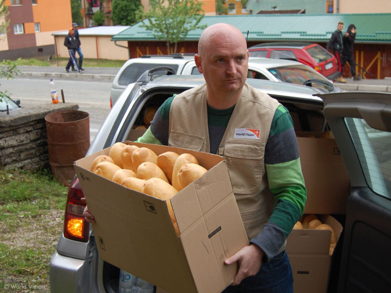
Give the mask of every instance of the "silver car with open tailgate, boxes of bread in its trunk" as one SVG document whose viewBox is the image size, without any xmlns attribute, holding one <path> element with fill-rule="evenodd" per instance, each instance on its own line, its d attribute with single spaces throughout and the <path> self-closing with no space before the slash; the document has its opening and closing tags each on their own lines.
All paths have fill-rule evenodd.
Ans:
<svg viewBox="0 0 391 293">
<path fill-rule="evenodd" d="M 203 82 L 200 75 L 168 75 L 130 84 L 100 127 L 87 155 L 118 141 L 135 140 L 145 130 L 135 131 L 134 126 L 142 124 L 149 105 L 161 105 L 173 94 Z M 294 84 L 256 79 L 247 82 L 287 107 L 296 131 L 331 129 L 338 143 L 351 189 L 346 214 L 334 215 L 343 224 L 344 236 L 335 248 L 329 291 L 365 288 L 366 292 L 390 292 L 391 94 L 320 94 L 315 88 Z M 316 182 L 322 180 L 315 178 Z M 75 178 L 68 193 L 63 235 L 50 261 L 50 291 L 118 292 L 120 269 L 99 258 L 93 230 L 84 221 L 81 197 L 83 191 Z M 73 223 L 82 229 L 73 229 Z"/>
</svg>

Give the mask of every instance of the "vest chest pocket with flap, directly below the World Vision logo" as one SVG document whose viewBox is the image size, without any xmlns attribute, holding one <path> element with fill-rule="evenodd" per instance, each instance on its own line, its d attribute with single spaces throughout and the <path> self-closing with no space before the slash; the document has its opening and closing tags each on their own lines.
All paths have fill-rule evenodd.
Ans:
<svg viewBox="0 0 391 293">
<path fill-rule="evenodd" d="M 250 194 L 259 191 L 264 166 L 264 143 L 226 142 L 223 156 L 234 193 Z"/>
</svg>

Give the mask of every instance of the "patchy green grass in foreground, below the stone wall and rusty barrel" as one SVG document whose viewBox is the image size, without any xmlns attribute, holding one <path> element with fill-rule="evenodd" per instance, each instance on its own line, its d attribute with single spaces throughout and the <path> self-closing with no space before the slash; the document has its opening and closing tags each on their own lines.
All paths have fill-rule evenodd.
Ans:
<svg viewBox="0 0 391 293">
<path fill-rule="evenodd" d="M 49 262 L 62 233 L 67 193 L 47 171 L 0 170 L 1 289 L 41 286 L 39 292 L 50 292 Z M 11 288 L 20 284 L 26 288 Z"/>
</svg>

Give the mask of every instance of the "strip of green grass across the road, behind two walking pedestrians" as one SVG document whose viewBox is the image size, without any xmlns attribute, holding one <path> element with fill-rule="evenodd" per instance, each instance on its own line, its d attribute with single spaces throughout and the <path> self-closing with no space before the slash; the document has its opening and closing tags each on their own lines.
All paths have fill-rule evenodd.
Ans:
<svg viewBox="0 0 391 293">
<path fill-rule="evenodd" d="M 21 59 L 18 62 L 19 66 L 66 66 L 69 58 L 52 58 L 46 59 Z M 107 59 L 83 59 L 83 67 L 121 67 L 124 60 L 107 60 Z"/>
</svg>

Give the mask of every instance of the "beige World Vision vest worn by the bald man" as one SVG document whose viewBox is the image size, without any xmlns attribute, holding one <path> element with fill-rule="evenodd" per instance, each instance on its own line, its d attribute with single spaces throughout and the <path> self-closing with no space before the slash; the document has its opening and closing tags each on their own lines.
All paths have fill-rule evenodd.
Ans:
<svg viewBox="0 0 391 293">
<path fill-rule="evenodd" d="M 267 188 L 264 152 L 278 105 L 277 100 L 245 84 L 219 146 L 249 239 L 262 231 L 275 206 Z M 169 123 L 169 145 L 209 152 L 205 85 L 175 96 Z"/>
</svg>

